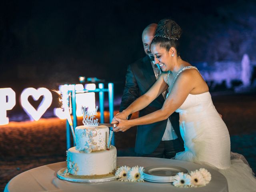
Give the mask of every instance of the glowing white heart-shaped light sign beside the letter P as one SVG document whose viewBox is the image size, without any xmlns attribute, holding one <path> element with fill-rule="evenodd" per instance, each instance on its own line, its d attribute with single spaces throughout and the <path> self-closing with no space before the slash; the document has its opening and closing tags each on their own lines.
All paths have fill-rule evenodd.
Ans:
<svg viewBox="0 0 256 192">
<path fill-rule="evenodd" d="M 28 101 L 29 96 L 32 96 L 34 100 L 44 96 L 37 110 Z M 20 102 L 24 111 L 30 116 L 30 119 L 38 121 L 52 104 L 52 93 L 46 88 L 38 88 L 37 90 L 35 88 L 26 88 L 20 95 Z"/>
</svg>

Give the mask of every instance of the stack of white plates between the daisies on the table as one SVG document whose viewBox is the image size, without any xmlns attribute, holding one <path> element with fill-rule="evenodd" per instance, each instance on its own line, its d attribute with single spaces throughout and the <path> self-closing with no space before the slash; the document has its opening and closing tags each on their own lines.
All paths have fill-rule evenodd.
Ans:
<svg viewBox="0 0 256 192">
<path fill-rule="evenodd" d="M 144 170 L 144 180 L 158 183 L 174 182 L 174 176 L 178 172 L 188 172 L 185 168 L 177 166 L 150 166 Z"/>
</svg>

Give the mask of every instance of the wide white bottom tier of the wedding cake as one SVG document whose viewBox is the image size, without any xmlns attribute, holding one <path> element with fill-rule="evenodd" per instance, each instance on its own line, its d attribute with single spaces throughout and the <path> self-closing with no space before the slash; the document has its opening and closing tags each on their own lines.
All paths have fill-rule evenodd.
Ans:
<svg viewBox="0 0 256 192">
<path fill-rule="evenodd" d="M 73 175 L 104 175 L 116 170 L 116 148 L 81 153 L 75 147 L 67 152 L 67 167 Z"/>
</svg>

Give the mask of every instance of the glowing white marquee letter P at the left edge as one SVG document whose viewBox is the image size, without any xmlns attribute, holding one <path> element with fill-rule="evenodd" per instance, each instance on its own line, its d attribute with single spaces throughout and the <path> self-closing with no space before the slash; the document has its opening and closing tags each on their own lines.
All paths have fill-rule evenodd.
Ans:
<svg viewBox="0 0 256 192">
<path fill-rule="evenodd" d="M 9 123 L 9 118 L 6 116 L 7 110 L 11 110 L 15 104 L 15 92 L 12 88 L 0 88 L 0 125 Z"/>
</svg>

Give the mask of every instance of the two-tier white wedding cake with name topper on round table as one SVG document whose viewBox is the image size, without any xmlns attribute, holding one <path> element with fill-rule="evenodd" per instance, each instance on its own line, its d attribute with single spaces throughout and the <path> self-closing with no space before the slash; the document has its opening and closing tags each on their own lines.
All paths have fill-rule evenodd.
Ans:
<svg viewBox="0 0 256 192">
<path fill-rule="evenodd" d="M 98 126 L 94 119 L 96 111 L 97 107 L 91 113 L 84 111 L 84 125 L 76 127 L 76 146 L 67 151 L 64 175 L 104 176 L 116 170 L 116 148 L 110 145 L 109 128 Z"/>
</svg>

